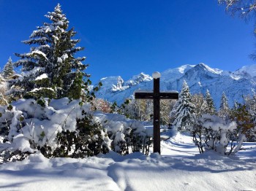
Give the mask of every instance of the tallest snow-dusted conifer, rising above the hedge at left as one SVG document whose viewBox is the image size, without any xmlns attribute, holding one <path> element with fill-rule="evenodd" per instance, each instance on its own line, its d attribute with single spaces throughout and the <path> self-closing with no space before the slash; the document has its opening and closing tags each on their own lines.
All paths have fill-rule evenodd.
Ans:
<svg viewBox="0 0 256 191">
<path fill-rule="evenodd" d="M 89 77 L 83 71 L 88 65 L 81 63 L 85 58 L 75 58 L 75 53 L 83 50 L 76 47 L 80 40 L 73 39 L 76 32 L 73 28 L 68 30 L 69 20 L 60 4 L 45 17 L 50 23 L 37 27 L 29 40 L 23 42 L 34 45 L 30 52 L 16 54 L 20 60 L 14 65 L 22 66 L 23 75 L 10 84 L 20 86 L 27 97 L 80 98 L 83 77 Z"/>
</svg>

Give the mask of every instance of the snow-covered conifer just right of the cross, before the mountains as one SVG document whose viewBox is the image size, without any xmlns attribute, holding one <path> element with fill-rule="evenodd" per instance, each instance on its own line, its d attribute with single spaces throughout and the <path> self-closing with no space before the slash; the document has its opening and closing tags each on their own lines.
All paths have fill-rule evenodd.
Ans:
<svg viewBox="0 0 256 191">
<path fill-rule="evenodd" d="M 178 101 L 170 112 L 170 118 L 174 118 L 173 126 L 181 131 L 189 131 L 195 123 L 195 105 L 192 104 L 192 95 L 185 80 Z"/>
</svg>

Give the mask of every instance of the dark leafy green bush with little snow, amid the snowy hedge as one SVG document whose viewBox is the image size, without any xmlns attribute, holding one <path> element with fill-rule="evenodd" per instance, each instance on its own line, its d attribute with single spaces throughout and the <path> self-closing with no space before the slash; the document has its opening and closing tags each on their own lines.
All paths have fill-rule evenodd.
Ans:
<svg viewBox="0 0 256 191">
<path fill-rule="evenodd" d="M 75 131 L 62 131 L 57 134 L 58 147 L 51 153 L 53 157 L 89 157 L 99 153 L 107 153 L 110 139 L 102 130 L 102 125 L 93 122 L 91 115 L 83 112 L 83 118 L 77 120 Z M 49 155 L 47 147 L 41 152 Z M 48 153 L 47 153 L 48 152 Z"/>
</svg>

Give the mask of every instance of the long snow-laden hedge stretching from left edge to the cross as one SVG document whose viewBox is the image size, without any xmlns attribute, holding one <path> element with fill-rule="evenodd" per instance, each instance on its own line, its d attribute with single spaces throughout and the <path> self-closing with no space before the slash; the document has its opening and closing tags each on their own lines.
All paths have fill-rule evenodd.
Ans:
<svg viewBox="0 0 256 191">
<path fill-rule="evenodd" d="M 90 108 L 68 98 L 20 99 L 1 106 L 1 156 L 9 159 L 23 153 L 23 159 L 39 149 L 46 157 L 86 157 L 111 148 L 127 154 L 149 147 L 150 135 L 140 122 Z"/>
</svg>

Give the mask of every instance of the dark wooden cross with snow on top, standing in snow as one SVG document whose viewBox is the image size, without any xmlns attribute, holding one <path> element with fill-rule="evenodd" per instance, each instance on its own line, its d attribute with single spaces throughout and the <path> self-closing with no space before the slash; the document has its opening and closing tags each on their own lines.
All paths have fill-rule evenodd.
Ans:
<svg viewBox="0 0 256 191">
<path fill-rule="evenodd" d="M 154 152 L 160 154 L 160 99 L 178 99 L 178 92 L 162 92 L 160 93 L 160 77 L 161 74 L 156 71 L 153 73 L 154 78 L 154 91 L 148 92 L 135 92 L 135 99 L 153 99 L 154 100 Z"/>
</svg>

